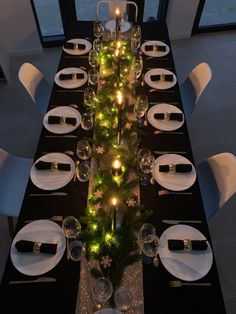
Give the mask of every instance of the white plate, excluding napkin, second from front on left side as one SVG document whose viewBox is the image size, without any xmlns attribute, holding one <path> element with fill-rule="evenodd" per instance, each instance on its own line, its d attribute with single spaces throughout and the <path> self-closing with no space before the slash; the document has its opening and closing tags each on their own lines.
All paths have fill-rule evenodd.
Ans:
<svg viewBox="0 0 236 314">
<path fill-rule="evenodd" d="M 39 160 L 70 164 L 70 171 L 63 170 L 37 170 L 36 162 Z M 75 163 L 71 157 L 62 153 L 49 153 L 38 158 L 30 171 L 30 178 L 34 185 L 42 190 L 56 190 L 68 184 L 74 177 Z"/>
</svg>

